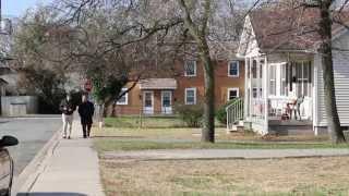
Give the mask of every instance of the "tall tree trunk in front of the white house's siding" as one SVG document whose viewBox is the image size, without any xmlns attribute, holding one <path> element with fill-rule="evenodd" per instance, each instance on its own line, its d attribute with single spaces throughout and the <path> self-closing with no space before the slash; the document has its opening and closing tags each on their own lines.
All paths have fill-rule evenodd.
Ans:
<svg viewBox="0 0 349 196">
<path fill-rule="evenodd" d="M 321 22 L 320 36 L 322 42 L 320 46 L 320 53 L 322 56 L 322 69 L 325 90 L 325 107 L 327 115 L 327 131 L 330 134 L 333 143 L 346 142 L 344 132 L 340 127 L 340 121 L 337 112 L 335 81 L 333 70 L 333 54 L 332 54 L 332 20 L 329 15 L 329 8 L 332 1 L 324 0 L 321 3 Z"/>
</svg>

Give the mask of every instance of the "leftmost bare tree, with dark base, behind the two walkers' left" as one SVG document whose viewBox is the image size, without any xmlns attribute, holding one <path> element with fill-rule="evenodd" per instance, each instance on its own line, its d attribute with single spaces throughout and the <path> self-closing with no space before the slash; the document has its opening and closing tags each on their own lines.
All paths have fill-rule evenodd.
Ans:
<svg viewBox="0 0 349 196">
<path fill-rule="evenodd" d="M 58 42 L 65 39 L 56 28 L 57 13 L 40 8 L 37 12 L 28 12 L 19 22 L 11 44 L 11 69 L 19 73 L 17 86 L 25 91 L 21 94 L 38 95 L 45 111 L 58 112 L 58 105 L 64 95 L 68 77 L 64 69 L 69 61 L 56 61 L 61 54 Z M 55 32 L 55 36 L 48 36 Z M 50 53 L 51 59 L 44 58 Z M 43 109 L 43 108 L 40 108 Z"/>
</svg>

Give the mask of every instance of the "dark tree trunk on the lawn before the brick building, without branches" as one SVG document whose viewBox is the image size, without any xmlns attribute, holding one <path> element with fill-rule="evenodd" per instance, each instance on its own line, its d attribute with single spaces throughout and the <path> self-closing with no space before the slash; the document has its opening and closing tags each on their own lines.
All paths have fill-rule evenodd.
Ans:
<svg viewBox="0 0 349 196">
<path fill-rule="evenodd" d="M 202 142 L 215 143 L 215 69 L 207 44 L 203 41 L 201 60 L 204 64 L 205 97 Z"/>
</svg>

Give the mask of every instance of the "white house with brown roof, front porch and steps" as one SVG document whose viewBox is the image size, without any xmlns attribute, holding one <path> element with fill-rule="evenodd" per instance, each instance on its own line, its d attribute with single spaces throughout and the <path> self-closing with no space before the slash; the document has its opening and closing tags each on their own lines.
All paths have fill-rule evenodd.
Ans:
<svg viewBox="0 0 349 196">
<path fill-rule="evenodd" d="M 245 125 L 261 134 L 326 131 L 317 22 L 316 10 L 301 9 L 257 10 L 245 17 L 239 47 L 245 59 Z M 349 126 L 349 32 L 336 24 L 333 54 L 338 113 L 341 126 Z M 239 108 L 227 109 L 228 127 L 239 120 Z"/>
</svg>

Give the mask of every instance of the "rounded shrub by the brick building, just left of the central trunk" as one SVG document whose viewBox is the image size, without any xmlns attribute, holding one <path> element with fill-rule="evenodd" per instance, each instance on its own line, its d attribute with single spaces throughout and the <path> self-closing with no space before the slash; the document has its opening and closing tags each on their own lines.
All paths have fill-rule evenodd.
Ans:
<svg viewBox="0 0 349 196">
<path fill-rule="evenodd" d="M 200 127 L 203 120 L 203 105 L 179 105 L 176 106 L 179 117 L 189 127 Z"/>
</svg>

